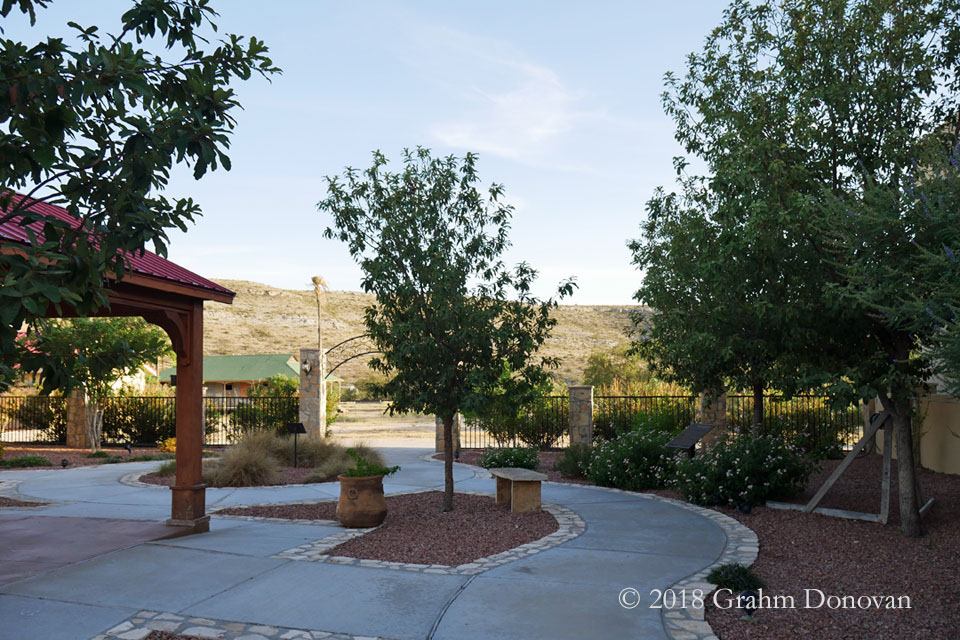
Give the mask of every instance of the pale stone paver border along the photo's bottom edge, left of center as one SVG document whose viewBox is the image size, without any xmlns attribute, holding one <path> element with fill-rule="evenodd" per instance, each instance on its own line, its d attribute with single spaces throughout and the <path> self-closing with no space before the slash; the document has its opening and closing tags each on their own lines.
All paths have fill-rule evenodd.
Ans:
<svg viewBox="0 0 960 640">
<path fill-rule="evenodd" d="M 365 636 L 140 611 L 92 640 L 143 640 L 153 631 L 222 640 L 368 640 Z"/>
</svg>

